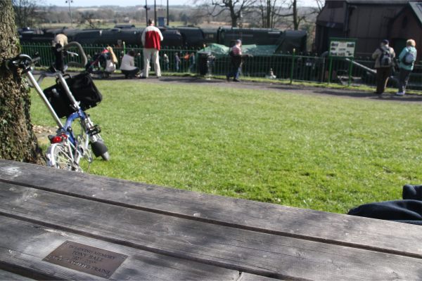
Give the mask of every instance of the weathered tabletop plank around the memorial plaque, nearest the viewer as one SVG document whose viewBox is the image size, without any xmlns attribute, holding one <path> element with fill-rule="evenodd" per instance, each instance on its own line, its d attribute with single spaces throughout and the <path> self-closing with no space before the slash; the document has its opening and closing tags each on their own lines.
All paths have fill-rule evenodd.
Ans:
<svg viewBox="0 0 422 281">
<path fill-rule="evenodd" d="M 13 218 L 0 216 L 0 231 L 0 263 L 3 268 L 19 267 L 15 270 L 21 276 L 15 280 L 25 280 L 25 277 L 41 280 L 105 280 L 96 275 L 42 261 L 65 241 L 126 254 L 128 258 L 111 275 L 114 280 L 237 280 L 239 275 L 236 270 L 154 254 Z M 0 280 L 9 279 L 1 276 L 2 272 Z M 10 275 L 10 279 L 13 276 L 19 275 Z"/>
</svg>

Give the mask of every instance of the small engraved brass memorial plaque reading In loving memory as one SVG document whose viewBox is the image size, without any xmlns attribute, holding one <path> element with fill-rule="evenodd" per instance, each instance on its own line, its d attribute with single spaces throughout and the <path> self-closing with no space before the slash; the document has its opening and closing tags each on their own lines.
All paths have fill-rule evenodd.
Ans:
<svg viewBox="0 0 422 281">
<path fill-rule="evenodd" d="M 110 277 L 127 258 L 124 254 L 66 241 L 43 261 L 100 277 Z"/>
</svg>

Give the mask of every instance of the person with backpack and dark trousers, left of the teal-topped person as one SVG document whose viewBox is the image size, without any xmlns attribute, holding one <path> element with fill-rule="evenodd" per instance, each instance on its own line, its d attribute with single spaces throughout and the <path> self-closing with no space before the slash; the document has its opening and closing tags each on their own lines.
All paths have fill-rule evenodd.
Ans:
<svg viewBox="0 0 422 281">
<path fill-rule="evenodd" d="M 394 65 L 395 52 L 388 44 L 389 42 L 387 39 L 381 41 L 380 47 L 376 48 L 372 54 L 376 68 L 375 93 L 378 95 L 384 93 L 388 78 L 390 78 L 392 73 L 392 66 Z"/>
</svg>

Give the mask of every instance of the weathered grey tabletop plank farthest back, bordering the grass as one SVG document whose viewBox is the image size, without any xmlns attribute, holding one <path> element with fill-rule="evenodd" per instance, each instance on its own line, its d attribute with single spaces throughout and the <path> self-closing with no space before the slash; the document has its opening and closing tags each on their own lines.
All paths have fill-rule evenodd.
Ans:
<svg viewBox="0 0 422 281">
<path fill-rule="evenodd" d="M 224 226 L 422 258 L 422 228 L 404 223 L 72 174 L 7 160 L 0 160 L 0 181 Z"/>
</svg>

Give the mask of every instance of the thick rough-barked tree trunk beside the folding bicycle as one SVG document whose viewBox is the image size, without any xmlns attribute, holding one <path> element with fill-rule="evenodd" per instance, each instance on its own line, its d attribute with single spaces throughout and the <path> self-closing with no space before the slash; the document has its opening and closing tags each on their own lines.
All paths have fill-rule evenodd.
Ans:
<svg viewBox="0 0 422 281">
<path fill-rule="evenodd" d="M 19 54 L 11 0 L 0 1 L 0 158 L 41 164 L 30 119 L 30 95 L 20 72 L 6 69 L 5 60 Z"/>
</svg>

